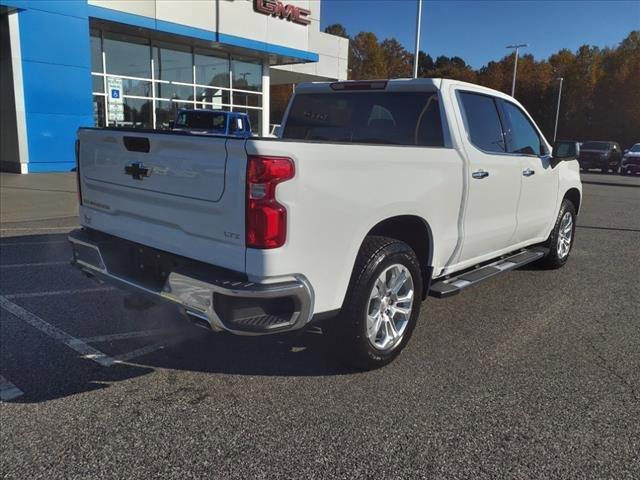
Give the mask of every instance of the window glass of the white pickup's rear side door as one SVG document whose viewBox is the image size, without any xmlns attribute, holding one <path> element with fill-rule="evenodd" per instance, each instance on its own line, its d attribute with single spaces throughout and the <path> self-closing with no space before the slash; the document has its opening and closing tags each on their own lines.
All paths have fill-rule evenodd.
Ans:
<svg viewBox="0 0 640 480">
<path fill-rule="evenodd" d="M 487 95 L 460 92 L 469 139 L 485 152 L 505 152 L 502 124 L 495 100 Z"/>
</svg>

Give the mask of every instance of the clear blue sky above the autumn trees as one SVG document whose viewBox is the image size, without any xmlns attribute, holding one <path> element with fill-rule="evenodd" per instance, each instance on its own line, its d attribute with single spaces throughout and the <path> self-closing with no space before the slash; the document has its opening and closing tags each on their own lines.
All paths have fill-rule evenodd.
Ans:
<svg viewBox="0 0 640 480">
<path fill-rule="evenodd" d="M 414 50 L 417 0 L 322 0 L 321 27 L 341 23 L 347 33 L 395 37 Z M 434 59 L 459 56 L 474 68 L 499 60 L 506 45 L 548 58 L 561 48 L 616 46 L 640 30 L 640 0 L 423 0 L 420 49 Z"/>
</svg>

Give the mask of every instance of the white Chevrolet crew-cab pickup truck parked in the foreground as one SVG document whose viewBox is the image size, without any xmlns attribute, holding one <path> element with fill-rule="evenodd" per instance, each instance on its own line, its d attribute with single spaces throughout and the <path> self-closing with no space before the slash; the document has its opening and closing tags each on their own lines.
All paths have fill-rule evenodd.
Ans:
<svg viewBox="0 0 640 480">
<path fill-rule="evenodd" d="M 214 331 L 322 321 L 391 361 L 427 295 L 562 266 L 582 187 L 513 98 L 441 79 L 304 84 L 280 138 L 82 128 L 73 264 Z"/>
</svg>

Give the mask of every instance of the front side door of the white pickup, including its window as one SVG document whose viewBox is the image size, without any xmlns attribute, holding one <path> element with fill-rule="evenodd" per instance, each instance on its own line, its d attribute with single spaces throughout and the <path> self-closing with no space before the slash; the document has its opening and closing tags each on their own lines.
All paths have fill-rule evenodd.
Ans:
<svg viewBox="0 0 640 480">
<path fill-rule="evenodd" d="M 515 242 L 544 239 L 554 220 L 558 175 L 551 156 L 529 116 L 516 104 L 500 100 L 506 127 L 507 153 L 521 168 Z"/>
</svg>

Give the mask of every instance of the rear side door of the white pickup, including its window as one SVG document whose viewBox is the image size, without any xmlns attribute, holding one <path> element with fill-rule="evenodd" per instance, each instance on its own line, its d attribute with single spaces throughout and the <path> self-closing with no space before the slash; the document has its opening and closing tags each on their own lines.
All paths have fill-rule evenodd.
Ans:
<svg viewBox="0 0 640 480">
<path fill-rule="evenodd" d="M 522 169 L 506 154 L 497 99 L 458 91 L 469 160 L 464 240 L 459 262 L 479 261 L 513 244 Z"/>
</svg>

